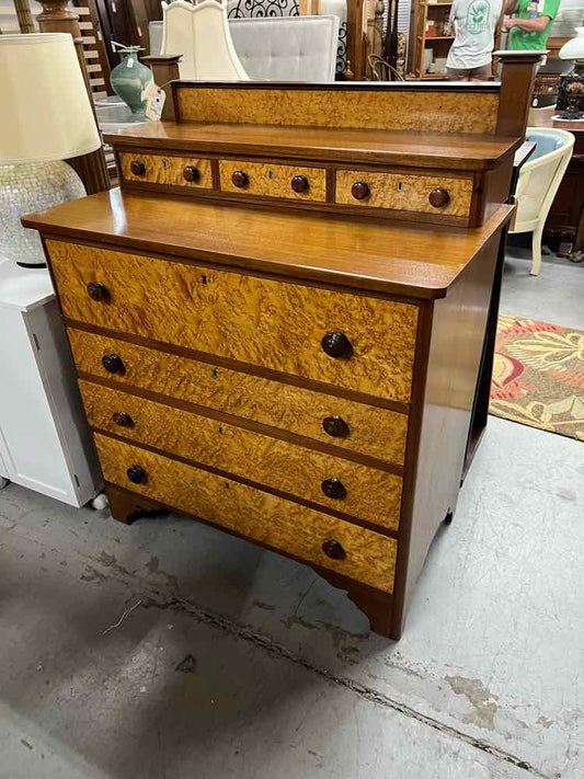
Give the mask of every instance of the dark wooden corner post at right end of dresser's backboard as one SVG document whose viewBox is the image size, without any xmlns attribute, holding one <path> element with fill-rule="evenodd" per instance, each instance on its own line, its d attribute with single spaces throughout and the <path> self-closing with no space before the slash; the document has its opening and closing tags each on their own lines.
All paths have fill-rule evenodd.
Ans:
<svg viewBox="0 0 584 779">
<path fill-rule="evenodd" d="M 496 135 L 525 135 L 537 65 L 546 51 L 495 51 L 501 60 L 501 98 Z"/>
</svg>

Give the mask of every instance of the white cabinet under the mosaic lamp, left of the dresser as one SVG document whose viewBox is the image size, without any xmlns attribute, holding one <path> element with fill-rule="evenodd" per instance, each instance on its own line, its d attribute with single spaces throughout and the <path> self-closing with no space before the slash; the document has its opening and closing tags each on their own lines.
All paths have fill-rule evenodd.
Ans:
<svg viewBox="0 0 584 779">
<path fill-rule="evenodd" d="M 48 271 L 1 259 L 0 476 L 73 506 L 102 489 Z"/>
</svg>

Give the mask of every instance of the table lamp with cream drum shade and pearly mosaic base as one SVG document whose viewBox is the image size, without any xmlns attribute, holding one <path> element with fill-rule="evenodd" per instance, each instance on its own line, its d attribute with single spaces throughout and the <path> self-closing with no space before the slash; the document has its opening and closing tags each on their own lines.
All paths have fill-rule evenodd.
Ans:
<svg viewBox="0 0 584 779">
<path fill-rule="evenodd" d="M 0 254 L 23 267 L 44 267 L 36 230 L 20 217 L 85 190 L 64 162 L 101 146 L 101 138 L 67 33 L 0 35 Z"/>
</svg>

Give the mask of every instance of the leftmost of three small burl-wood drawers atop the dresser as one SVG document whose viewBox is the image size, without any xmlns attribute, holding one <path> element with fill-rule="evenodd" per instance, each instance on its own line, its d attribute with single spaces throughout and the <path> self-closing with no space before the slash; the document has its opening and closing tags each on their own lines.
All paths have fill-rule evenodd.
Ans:
<svg viewBox="0 0 584 779">
<path fill-rule="evenodd" d="M 173 184 L 203 190 L 213 187 L 210 160 L 121 151 L 119 167 L 124 181 L 145 181 L 149 184 Z"/>
</svg>

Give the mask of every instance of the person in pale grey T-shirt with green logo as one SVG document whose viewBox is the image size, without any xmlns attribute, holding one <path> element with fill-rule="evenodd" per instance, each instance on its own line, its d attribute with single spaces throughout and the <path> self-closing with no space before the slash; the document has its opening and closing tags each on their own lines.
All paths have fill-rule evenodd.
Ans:
<svg viewBox="0 0 584 779">
<path fill-rule="evenodd" d="M 454 0 L 449 26 L 455 42 L 446 72 L 451 81 L 486 81 L 503 0 Z"/>
</svg>

